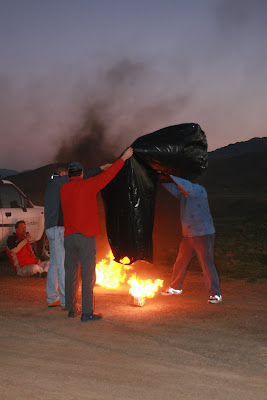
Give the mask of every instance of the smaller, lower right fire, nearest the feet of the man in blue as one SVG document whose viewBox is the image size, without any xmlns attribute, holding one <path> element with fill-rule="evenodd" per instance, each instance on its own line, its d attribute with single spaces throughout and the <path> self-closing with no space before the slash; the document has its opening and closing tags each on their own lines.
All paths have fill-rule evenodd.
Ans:
<svg viewBox="0 0 267 400">
<path fill-rule="evenodd" d="M 162 287 L 163 285 L 163 281 L 161 279 L 156 279 L 154 282 L 152 282 L 151 279 L 139 279 L 136 277 L 136 274 L 133 274 L 127 283 L 129 283 L 131 286 L 129 292 L 134 297 L 138 298 L 154 297 L 158 288 Z"/>
</svg>

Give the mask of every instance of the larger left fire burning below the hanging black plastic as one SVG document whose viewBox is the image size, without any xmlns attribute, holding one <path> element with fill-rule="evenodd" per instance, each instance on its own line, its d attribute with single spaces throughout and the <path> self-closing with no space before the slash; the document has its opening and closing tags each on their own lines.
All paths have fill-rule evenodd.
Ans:
<svg viewBox="0 0 267 400">
<path fill-rule="evenodd" d="M 96 265 L 96 283 L 108 288 L 117 288 L 126 279 L 126 271 L 131 269 L 130 265 L 122 265 L 114 261 L 112 251 L 106 255 L 107 259 L 101 260 Z M 128 257 L 124 257 L 121 262 L 130 262 Z"/>
</svg>

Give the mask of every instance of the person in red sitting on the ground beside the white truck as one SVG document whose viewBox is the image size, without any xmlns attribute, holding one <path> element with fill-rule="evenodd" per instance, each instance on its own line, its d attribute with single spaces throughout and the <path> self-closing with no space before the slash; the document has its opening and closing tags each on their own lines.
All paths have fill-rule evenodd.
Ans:
<svg viewBox="0 0 267 400">
<path fill-rule="evenodd" d="M 30 234 L 26 232 L 25 221 L 18 221 L 15 225 L 16 232 L 7 239 L 7 255 L 19 276 L 38 276 L 45 278 L 49 262 L 35 257 L 30 244 Z"/>
</svg>

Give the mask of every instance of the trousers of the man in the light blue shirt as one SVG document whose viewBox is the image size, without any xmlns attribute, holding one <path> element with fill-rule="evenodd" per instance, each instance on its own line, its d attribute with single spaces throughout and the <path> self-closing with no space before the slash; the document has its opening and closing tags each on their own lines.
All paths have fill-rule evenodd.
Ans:
<svg viewBox="0 0 267 400">
<path fill-rule="evenodd" d="M 182 289 L 186 268 L 193 256 L 197 256 L 208 293 L 211 296 L 221 294 L 219 277 L 214 265 L 214 240 L 214 234 L 183 238 L 173 266 L 170 287 Z"/>
</svg>

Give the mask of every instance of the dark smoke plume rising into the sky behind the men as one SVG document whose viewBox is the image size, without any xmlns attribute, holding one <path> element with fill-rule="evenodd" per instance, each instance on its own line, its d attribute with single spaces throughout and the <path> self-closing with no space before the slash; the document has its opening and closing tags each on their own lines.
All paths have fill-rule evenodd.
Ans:
<svg viewBox="0 0 267 400">
<path fill-rule="evenodd" d="M 74 132 L 65 135 L 55 162 L 79 161 L 85 168 L 113 162 L 137 137 L 164 127 L 158 120 L 170 125 L 170 115 L 175 110 L 178 115 L 192 96 L 187 89 L 171 97 L 166 94 L 165 99 L 153 98 L 151 82 L 157 79 L 151 65 L 127 59 L 99 71 L 96 77 L 95 86 L 84 85 L 82 103 L 75 105 L 84 110 L 77 117 L 80 122 L 74 122 Z M 140 95 L 145 85 L 150 87 L 147 99 Z"/>
</svg>

